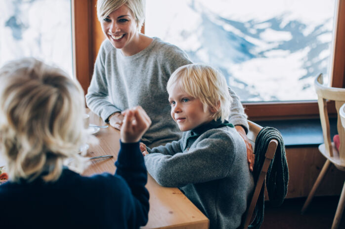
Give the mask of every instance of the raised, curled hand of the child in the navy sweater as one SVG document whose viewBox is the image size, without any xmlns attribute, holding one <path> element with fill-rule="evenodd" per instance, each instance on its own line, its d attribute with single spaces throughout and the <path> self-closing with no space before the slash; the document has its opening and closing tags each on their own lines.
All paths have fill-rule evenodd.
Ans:
<svg viewBox="0 0 345 229">
<path fill-rule="evenodd" d="M 122 112 L 124 121 L 120 136 L 123 143 L 138 142 L 151 125 L 151 119 L 141 106 Z"/>
</svg>

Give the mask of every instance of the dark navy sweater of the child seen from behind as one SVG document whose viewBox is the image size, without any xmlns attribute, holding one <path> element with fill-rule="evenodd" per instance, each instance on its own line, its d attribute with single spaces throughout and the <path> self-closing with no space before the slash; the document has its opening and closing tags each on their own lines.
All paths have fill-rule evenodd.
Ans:
<svg viewBox="0 0 345 229">
<path fill-rule="evenodd" d="M 137 229 L 147 223 L 147 172 L 138 143 L 121 143 L 115 175 L 63 169 L 59 179 L 0 185 L 0 228 Z"/>
</svg>

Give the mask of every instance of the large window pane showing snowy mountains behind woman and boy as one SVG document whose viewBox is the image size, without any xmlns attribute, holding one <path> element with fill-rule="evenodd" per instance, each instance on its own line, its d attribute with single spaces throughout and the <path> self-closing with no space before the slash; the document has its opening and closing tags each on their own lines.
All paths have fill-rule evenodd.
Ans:
<svg viewBox="0 0 345 229">
<path fill-rule="evenodd" d="M 147 0 L 145 33 L 216 66 L 242 101 L 316 99 L 335 0 Z M 307 9 L 307 10 L 306 10 Z"/>
</svg>

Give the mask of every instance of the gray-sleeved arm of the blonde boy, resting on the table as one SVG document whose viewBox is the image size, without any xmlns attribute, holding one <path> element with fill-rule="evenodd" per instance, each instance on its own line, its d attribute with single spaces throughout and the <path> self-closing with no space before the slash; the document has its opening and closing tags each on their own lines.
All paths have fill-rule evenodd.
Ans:
<svg viewBox="0 0 345 229">
<path fill-rule="evenodd" d="M 233 163 L 235 150 L 237 146 L 232 138 L 217 132 L 198 142 L 196 148 L 186 153 L 173 156 L 151 153 L 144 160 L 147 171 L 158 184 L 182 187 L 225 177 Z"/>
</svg>

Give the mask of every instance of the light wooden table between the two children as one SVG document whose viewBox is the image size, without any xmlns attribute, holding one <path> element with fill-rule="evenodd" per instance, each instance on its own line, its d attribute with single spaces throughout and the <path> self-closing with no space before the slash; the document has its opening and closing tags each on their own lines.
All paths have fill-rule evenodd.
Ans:
<svg viewBox="0 0 345 229">
<path fill-rule="evenodd" d="M 105 125 L 91 111 L 90 123 Z M 109 127 L 100 129 L 96 136 L 98 145 L 90 145 L 88 157 L 113 155 L 111 159 L 95 159 L 86 169 L 84 175 L 109 172 L 115 173 L 115 161 L 120 147 L 120 131 Z M 150 193 L 149 221 L 142 229 L 208 229 L 209 220 L 194 204 L 177 188 L 165 188 L 148 175 L 146 188 Z"/>
</svg>

